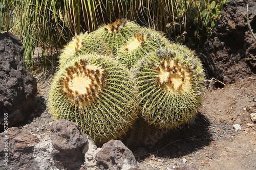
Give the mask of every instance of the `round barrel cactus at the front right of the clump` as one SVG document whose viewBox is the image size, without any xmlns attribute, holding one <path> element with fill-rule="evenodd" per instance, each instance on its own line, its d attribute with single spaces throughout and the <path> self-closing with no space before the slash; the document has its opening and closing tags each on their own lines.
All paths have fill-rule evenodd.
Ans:
<svg viewBox="0 0 256 170">
<path fill-rule="evenodd" d="M 188 48 L 160 50 L 132 68 L 142 117 L 157 128 L 179 128 L 196 115 L 203 91 L 202 64 Z"/>
</svg>

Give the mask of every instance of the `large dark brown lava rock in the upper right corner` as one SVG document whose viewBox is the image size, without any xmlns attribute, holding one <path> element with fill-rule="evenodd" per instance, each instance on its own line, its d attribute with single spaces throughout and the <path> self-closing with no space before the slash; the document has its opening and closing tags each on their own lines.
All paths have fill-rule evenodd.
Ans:
<svg viewBox="0 0 256 170">
<path fill-rule="evenodd" d="M 221 18 L 204 44 L 202 61 L 208 78 L 233 83 L 256 73 L 256 42 L 247 25 L 247 3 L 249 23 L 256 31 L 255 0 L 224 4 Z"/>
</svg>

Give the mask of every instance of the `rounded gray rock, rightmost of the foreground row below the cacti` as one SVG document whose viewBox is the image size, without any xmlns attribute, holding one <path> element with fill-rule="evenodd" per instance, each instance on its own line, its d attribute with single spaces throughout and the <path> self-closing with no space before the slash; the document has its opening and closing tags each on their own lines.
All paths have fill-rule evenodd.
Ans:
<svg viewBox="0 0 256 170">
<path fill-rule="evenodd" d="M 132 153 L 120 140 L 104 143 L 96 154 L 96 169 L 136 169 L 138 165 Z"/>
</svg>

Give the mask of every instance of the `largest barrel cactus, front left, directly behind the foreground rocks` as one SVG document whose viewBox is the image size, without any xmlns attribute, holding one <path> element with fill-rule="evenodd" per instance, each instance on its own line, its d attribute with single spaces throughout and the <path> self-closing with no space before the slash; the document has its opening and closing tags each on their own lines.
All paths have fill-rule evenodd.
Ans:
<svg viewBox="0 0 256 170">
<path fill-rule="evenodd" d="M 137 118 L 137 103 L 129 71 L 102 55 L 70 60 L 58 70 L 49 92 L 53 118 L 77 123 L 96 144 L 125 134 Z"/>
</svg>

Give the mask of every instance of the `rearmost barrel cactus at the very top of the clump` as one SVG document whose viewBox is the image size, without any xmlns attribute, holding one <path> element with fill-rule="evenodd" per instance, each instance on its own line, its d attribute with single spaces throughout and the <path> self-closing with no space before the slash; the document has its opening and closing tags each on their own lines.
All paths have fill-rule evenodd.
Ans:
<svg viewBox="0 0 256 170">
<path fill-rule="evenodd" d="M 132 21 L 117 19 L 109 25 L 103 25 L 94 34 L 101 37 L 109 45 L 114 56 L 123 43 L 133 37 L 134 33 L 140 31 L 140 27 Z"/>
</svg>

